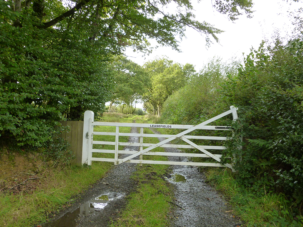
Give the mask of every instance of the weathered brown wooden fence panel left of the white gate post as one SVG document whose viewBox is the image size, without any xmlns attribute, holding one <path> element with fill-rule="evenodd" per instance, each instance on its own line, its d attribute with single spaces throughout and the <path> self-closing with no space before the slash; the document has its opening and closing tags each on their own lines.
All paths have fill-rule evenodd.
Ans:
<svg viewBox="0 0 303 227">
<path fill-rule="evenodd" d="M 82 141 L 83 141 L 83 121 L 61 121 L 62 126 L 69 126 L 68 132 L 62 133 L 61 137 L 65 138 L 71 145 L 71 150 L 75 159 L 73 165 L 82 165 Z"/>
</svg>

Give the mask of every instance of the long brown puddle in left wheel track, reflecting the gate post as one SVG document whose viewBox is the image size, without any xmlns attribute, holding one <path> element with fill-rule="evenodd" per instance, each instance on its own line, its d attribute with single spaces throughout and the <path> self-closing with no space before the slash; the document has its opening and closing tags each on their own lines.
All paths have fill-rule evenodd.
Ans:
<svg viewBox="0 0 303 227">
<path fill-rule="evenodd" d="M 95 210 L 102 210 L 105 208 L 108 202 L 110 202 L 111 200 L 119 199 L 122 196 L 123 196 L 122 194 L 115 196 L 113 198 L 109 198 L 109 195 L 98 196 L 95 199 L 92 199 L 87 203 L 85 203 L 84 205 L 78 207 L 75 211 L 67 212 L 61 218 L 46 223 L 45 225 L 43 225 L 43 227 L 77 226 L 76 221 L 79 219 L 79 215 L 87 216 L 91 212 L 94 212 Z"/>
</svg>

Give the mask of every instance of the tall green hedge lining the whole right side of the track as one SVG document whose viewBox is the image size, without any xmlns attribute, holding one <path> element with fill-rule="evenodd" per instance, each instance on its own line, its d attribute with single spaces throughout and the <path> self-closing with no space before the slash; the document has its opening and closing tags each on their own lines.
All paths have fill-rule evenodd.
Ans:
<svg viewBox="0 0 303 227">
<path fill-rule="evenodd" d="M 229 149 L 225 155 L 232 152 L 238 157 L 237 182 L 258 196 L 265 192 L 284 193 L 294 207 L 300 208 L 303 201 L 302 38 L 285 45 L 277 40 L 274 47 L 268 48 L 262 43 L 258 50 L 252 49 L 244 63 L 238 73 L 217 67 L 200 73 L 165 102 L 161 122 L 197 124 L 235 105 L 239 108 L 238 120 L 232 122 L 226 117 L 217 123 L 234 129 L 235 139 L 226 141 Z M 238 146 L 243 146 L 243 150 L 238 150 Z"/>
</svg>

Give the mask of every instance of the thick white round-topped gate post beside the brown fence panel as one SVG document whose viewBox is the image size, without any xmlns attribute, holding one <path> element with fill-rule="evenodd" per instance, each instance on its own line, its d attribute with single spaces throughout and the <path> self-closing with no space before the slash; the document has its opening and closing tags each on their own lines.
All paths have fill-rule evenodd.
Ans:
<svg viewBox="0 0 303 227">
<path fill-rule="evenodd" d="M 90 148 L 92 146 L 92 141 L 89 140 L 89 138 L 92 138 L 91 135 L 89 135 L 89 132 L 92 131 L 89 127 L 91 123 L 90 121 L 94 121 L 94 112 L 91 110 L 86 110 L 84 112 L 84 122 L 83 122 L 83 145 L 82 145 L 82 165 L 83 164 L 88 164 L 88 155 L 90 154 Z"/>
</svg>

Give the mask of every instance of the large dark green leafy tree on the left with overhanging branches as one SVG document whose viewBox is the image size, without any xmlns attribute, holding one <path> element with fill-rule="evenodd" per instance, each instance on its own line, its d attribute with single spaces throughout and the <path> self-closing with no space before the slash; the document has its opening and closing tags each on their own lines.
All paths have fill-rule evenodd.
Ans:
<svg viewBox="0 0 303 227">
<path fill-rule="evenodd" d="M 221 31 L 194 19 L 188 1 L 0 1 L 0 134 L 19 145 L 43 146 L 59 120 L 102 112 L 111 94 L 108 58 L 126 46 L 148 52 L 148 38 L 178 49 L 187 26 L 208 42 Z M 238 7 L 237 7 L 238 6 Z M 236 19 L 247 0 L 215 1 Z M 183 7 L 183 8 L 182 8 Z M 240 11 L 238 10 L 240 9 Z"/>
</svg>

